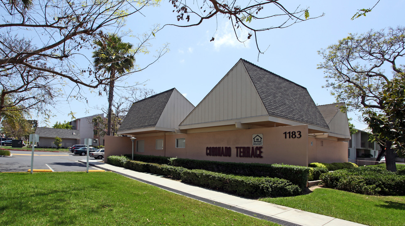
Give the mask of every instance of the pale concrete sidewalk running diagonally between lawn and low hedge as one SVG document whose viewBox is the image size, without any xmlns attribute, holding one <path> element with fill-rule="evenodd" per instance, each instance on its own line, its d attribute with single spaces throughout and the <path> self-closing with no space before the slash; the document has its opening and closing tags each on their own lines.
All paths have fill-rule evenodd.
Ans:
<svg viewBox="0 0 405 226">
<path fill-rule="evenodd" d="M 85 163 L 85 161 L 81 161 Z M 328 217 L 316 213 L 310 213 L 290 207 L 283 207 L 271 203 L 266 203 L 254 199 L 242 198 L 217 192 L 214 190 L 200 188 L 193 185 L 181 183 L 171 179 L 166 179 L 158 175 L 148 173 L 140 173 L 126 168 L 112 166 L 104 162 L 91 161 L 92 166 L 112 171 L 132 179 L 148 183 L 153 186 L 188 196 L 206 203 L 224 207 L 232 211 L 268 220 L 284 226 L 360 226 L 358 224 L 346 220 L 341 220 L 334 217 Z M 326 204 L 327 205 L 327 204 Z"/>
</svg>

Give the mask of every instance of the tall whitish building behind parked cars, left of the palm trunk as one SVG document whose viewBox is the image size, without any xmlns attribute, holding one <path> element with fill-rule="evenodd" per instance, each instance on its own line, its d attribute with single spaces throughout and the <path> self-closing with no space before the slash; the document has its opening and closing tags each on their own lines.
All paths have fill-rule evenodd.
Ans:
<svg viewBox="0 0 405 226">
<path fill-rule="evenodd" d="M 104 136 L 98 136 L 94 131 L 94 125 L 92 124 L 92 119 L 97 116 L 104 118 L 104 114 L 98 114 L 78 118 L 70 122 L 74 130 L 80 131 L 80 144 L 84 144 L 84 139 L 90 138 L 93 139 L 93 146 L 104 145 Z"/>
</svg>

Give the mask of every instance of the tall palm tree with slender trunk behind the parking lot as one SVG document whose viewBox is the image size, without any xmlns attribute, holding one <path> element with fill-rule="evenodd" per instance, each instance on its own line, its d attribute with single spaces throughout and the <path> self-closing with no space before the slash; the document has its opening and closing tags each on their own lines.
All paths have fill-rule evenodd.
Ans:
<svg viewBox="0 0 405 226">
<path fill-rule="evenodd" d="M 111 135 L 111 111 L 114 99 L 114 83 L 118 79 L 116 75 L 123 75 L 134 68 L 135 58 L 130 53 L 133 45 L 123 43 L 121 38 L 111 34 L 105 42 L 96 41 L 98 49 L 93 52 L 94 66 L 98 70 L 109 73 L 108 92 L 108 115 L 107 115 L 107 135 Z"/>
</svg>

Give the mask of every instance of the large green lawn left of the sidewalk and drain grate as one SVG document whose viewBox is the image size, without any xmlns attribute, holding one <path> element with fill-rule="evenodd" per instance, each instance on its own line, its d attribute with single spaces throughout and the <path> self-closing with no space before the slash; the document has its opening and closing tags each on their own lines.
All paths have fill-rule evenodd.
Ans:
<svg viewBox="0 0 405 226">
<path fill-rule="evenodd" d="M 0 225 L 272 225 L 110 172 L 0 173 Z"/>
</svg>

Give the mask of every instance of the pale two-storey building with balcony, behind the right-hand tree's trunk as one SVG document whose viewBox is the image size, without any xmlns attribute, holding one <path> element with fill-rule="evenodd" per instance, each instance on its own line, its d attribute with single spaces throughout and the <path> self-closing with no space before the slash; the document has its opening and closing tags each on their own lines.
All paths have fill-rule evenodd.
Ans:
<svg viewBox="0 0 405 226">
<path fill-rule="evenodd" d="M 352 134 L 352 139 L 350 139 L 348 146 L 349 159 L 371 158 L 368 160 L 375 160 L 377 158 L 381 147 L 377 142 L 369 142 L 370 135 L 370 133 L 362 130 L 357 130 L 355 134 Z"/>
</svg>

